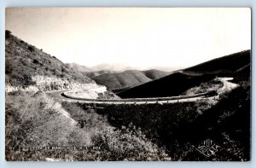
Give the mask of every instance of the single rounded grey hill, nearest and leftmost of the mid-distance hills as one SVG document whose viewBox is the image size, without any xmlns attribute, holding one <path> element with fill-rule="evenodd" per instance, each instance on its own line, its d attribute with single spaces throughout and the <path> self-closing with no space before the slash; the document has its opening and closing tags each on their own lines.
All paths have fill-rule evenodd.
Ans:
<svg viewBox="0 0 256 168">
<path fill-rule="evenodd" d="M 105 85 L 109 90 L 131 88 L 151 81 L 143 72 L 136 70 L 127 70 L 119 73 L 104 73 L 93 77 L 93 79 L 96 81 L 96 84 Z"/>
</svg>

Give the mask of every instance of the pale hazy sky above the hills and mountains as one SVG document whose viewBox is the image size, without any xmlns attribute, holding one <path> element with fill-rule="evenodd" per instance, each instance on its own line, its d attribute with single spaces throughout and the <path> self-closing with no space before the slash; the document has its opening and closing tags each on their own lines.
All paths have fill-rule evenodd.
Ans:
<svg viewBox="0 0 256 168">
<path fill-rule="evenodd" d="M 189 67 L 251 49 L 250 9 L 6 9 L 6 29 L 86 67 Z"/>
</svg>

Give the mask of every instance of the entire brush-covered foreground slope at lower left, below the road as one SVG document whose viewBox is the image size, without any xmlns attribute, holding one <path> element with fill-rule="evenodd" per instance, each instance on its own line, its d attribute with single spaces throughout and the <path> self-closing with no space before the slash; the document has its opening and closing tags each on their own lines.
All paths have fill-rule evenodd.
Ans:
<svg viewBox="0 0 256 168">
<path fill-rule="evenodd" d="M 5 115 L 7 160 L 171 159 L 140 130 L 115 128 L 92 109 L 61 106 L 40 91 L 7 94 Z"/>
</svg>

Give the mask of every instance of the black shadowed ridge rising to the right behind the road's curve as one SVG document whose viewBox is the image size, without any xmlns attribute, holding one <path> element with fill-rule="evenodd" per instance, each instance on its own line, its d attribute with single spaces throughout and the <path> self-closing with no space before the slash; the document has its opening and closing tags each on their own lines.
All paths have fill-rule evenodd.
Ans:
<svg viewBox="0 0 256 168">
<path fill-rule="evenodd" d="M 216 76 L 249 77 L 250 50 L 226 55 L 207 61 L 195 67 L 189 67 L 179 72 L 156 79 L 147 84 L 141 84 L 118 94 L 121 98 L 178 96 L 185 90 L 215 78 Z"/>
</svg>

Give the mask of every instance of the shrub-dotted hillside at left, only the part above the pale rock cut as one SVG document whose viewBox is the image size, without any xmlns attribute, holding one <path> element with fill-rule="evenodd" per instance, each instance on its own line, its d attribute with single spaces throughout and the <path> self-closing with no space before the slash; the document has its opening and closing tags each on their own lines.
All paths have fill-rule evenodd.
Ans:
<svg viewBox="0 0 256 168">
<path fill-rule="evenodd" d="M 32 76 L 67 78 L 78 83 L 91 83 L 90 78 L 71 69 L 55 56 L 44 53 L 29 43 L 5 32 L 5 79 L 6 84 L 27 86 L 33 84 Z"/>
</svg>

